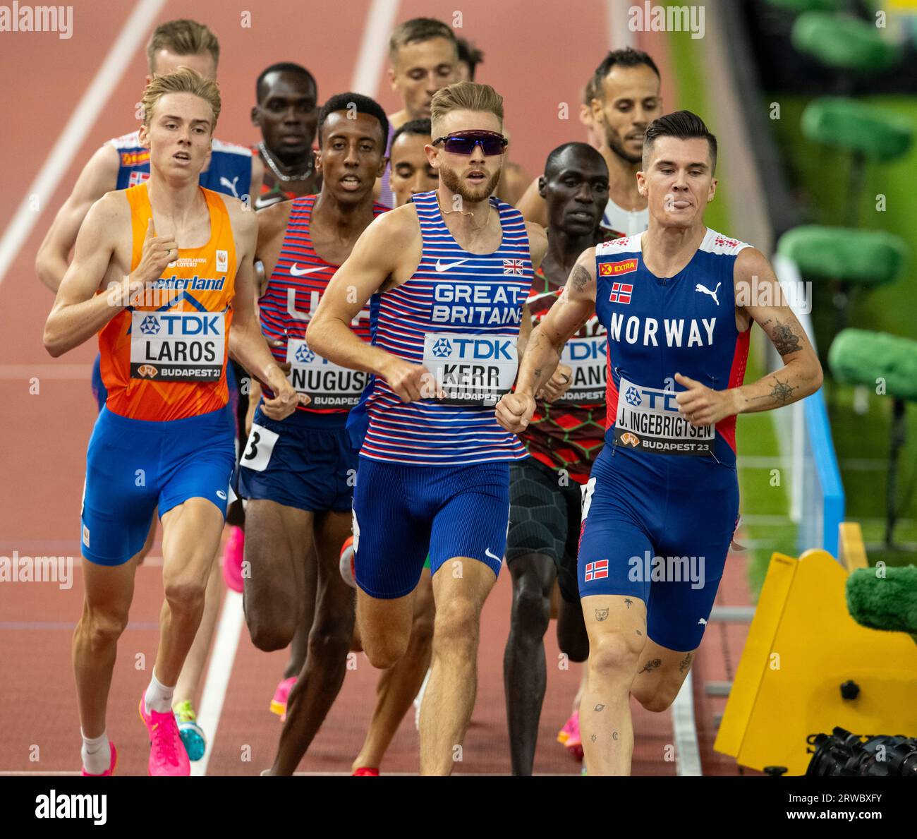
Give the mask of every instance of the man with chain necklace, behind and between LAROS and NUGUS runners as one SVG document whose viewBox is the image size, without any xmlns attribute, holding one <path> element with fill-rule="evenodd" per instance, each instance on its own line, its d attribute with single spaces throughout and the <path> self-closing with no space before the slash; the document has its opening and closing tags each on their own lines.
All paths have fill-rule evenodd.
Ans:
<svg viewBox="0 0 917 839">
<path fill-rule="evenodd" d="M 318 192 L 312 143 L 318 123 L 318 85 L 311 72 L 283 61 L 261 71 L 251 123 L 261 130 L 252 151 L 264 162 L 258 210 Z"/>
</svg>

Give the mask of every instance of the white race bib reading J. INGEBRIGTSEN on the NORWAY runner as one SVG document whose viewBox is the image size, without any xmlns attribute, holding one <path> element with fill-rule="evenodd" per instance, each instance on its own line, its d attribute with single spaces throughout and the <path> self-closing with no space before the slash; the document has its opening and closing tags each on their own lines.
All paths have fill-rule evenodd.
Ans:
<svg viewBox="0 0 917 839">
<path fill-rule="evenodd" d="M 645 388 L 621 377 L 614 445 L 663 455 L 713 454 L 713 425 L 695 428 L 679 414 L 674 391 Z"/>
</svg>

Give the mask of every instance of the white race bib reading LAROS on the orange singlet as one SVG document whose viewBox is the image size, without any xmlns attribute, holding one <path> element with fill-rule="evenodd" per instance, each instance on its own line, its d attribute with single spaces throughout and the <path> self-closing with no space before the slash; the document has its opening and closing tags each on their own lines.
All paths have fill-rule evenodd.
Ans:
<svg viewBox="0 0 917 839">
<path fill-rule="evenodd" d="M 152 381 L 219 381 L 226 316 L 213 312 L 134 312 L 130 376 Z"/>
</svg>

